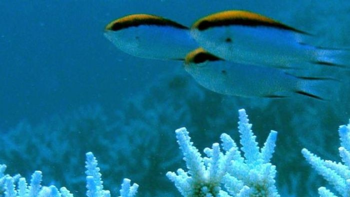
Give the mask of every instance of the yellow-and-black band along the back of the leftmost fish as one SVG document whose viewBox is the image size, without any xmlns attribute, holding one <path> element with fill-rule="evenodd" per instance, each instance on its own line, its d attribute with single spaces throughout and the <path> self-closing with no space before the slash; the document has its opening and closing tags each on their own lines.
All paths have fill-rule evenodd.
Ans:
<svg viewBox="0 0 350 197">
<path fill-rule="evenodd" d="M 155 15 L 135 14 L 128 15 L 110 22 L 105 27 L 105 30 L 118 31 L 129 27 L 137 27 L 140 25 L 171 26 L 178 29 L 188 29 L 181 24 Z"/>
</svg>

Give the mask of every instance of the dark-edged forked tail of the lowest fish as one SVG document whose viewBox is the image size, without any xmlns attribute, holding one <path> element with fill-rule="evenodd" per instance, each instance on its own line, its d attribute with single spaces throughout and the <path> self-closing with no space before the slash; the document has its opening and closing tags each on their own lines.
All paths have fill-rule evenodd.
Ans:
<svg viewBox="0 0 350 197">
<path fill-rule="evenodd" d="M 341 82 L 332 78 L 298 77 L 298 88 L 294 92 L 309 98 L 333 101 L 337 100 Z"/>
</svg>

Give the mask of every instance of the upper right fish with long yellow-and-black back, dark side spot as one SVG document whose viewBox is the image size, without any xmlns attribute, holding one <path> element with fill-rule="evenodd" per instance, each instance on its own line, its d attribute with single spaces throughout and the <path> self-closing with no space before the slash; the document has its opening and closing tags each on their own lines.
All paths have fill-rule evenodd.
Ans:
<svg viewBox="0 0 350 197">
<path fill-rule="evenodd" d="M 230 10 L 203 17 L 190 32 L 204 50 L 236 63 L 274 68 L 349 68 L 348 49 L 306 44 L 305 38 L 312 34 L 249 11 Z"/>
</svg>

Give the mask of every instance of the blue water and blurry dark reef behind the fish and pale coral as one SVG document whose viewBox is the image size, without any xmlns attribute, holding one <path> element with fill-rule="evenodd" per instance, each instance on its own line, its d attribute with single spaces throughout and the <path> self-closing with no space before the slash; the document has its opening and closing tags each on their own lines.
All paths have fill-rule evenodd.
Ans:
<svg viewBox="0 0 350 197">
<path fill-rule="evenodd" d="M 338 161 L 338 125 L 350 118 L 350 77 L 338 99 L 239 98 L 210 92 L 182 63 L 118 51 L 103 29 L 146 13 L 185 26 L 223 10 L 256 12 L 311 32 L 316 46 L 350 46 L 348 1 L 0 1 L 0 163 L 9 174 L 43 172 L 43 184 L 85 194 L 85 152 L 116 195 L 123 177 L 139 196 L 179 196 L 165 177 L 183 167 L 174 130 L 186 126 L 202 150 L 222 132 L 238 138 L 245 108 L 262 143 L 278 131 L 272 164 L 281 196 L 315 196 L 326 185 L 304 161 L 307 147 Z M 348 73 L 347 73 L 348 74 Z"/>
</svg>

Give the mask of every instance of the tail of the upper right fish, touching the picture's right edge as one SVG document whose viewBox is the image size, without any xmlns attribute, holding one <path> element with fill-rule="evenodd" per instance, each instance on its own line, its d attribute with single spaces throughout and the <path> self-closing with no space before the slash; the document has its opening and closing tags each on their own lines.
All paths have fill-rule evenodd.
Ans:
<svg viewBox="0 0 350 197">
<path fill-rule="evenodd" d="M 350 49 L 316 47 L 313 64 L 350 69 Z"/>
</svg>

